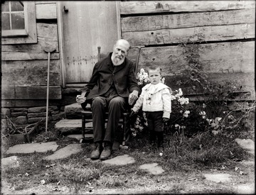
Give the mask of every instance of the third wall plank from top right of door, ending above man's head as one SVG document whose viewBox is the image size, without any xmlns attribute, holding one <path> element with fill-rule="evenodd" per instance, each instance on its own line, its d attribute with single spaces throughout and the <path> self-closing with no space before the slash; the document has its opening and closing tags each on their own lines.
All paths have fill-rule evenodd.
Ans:
<svg viewBox="0 0 256 195">
<path fill-rule="evenodd" d="M 124 32 L 122 38 L 131 45 L 161 45 L 204 41 L 255 38 L 255 23 L 228 26 L 203 26 L 195 28 L 161 29 L 142 32 Z"/>
</svg>

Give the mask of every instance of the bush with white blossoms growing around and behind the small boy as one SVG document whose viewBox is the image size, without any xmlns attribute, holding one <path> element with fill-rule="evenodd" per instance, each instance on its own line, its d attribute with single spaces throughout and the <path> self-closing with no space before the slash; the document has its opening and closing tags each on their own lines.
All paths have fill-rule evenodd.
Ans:
<svg viewBox="0 0 256 195">
<path fill-rule="evenodd" d="M 138 72 L 137 79 L 141 89 L 146 84 L 149 84 L 148 74 L 144 69 Z M 164 83 L 164 78 L 161 79 L 161 82 Z M 213 92 L 215 94 L 214 96 L 223 94 L 222 91 L 220 91 L 220 93 Z M 151 97 L 148 96 L 147 98 L 150 99 Z M 218 106 L 215 102 L 216 101 L 196 101 L 196 103 L 194 103 L 183 96 L 181 88 L 173 90 L 171 94 L 170 120 L 165 124 L 166 133 L 178 132 L 182 135 L 191 136 L 198 132 L 210 130 L 213 135 L 217 135 L 223 132 L 223 130 L 235 128 L 239 130 L 243 126 L 245 128 L 252 126 L 247 119 L 249 118 L 249 116 L 247 116 L 248 114 L 233 116 L 231 112 L 228 111 L 227 107 L 222 104 Z M 252 106 L 252 108 L 255 108 L 255 106 Z M 245 113 L 248 112 L 245 111 Z M 233 125 L 233 123 L 235 124 Z M 131 118 L 130 129 L 132 130 L 132 135 L 136 136 L 137 133 L 145 130 L 147 126 L 146 113 L 140 109 L 139 112 Z"/>
</svg>

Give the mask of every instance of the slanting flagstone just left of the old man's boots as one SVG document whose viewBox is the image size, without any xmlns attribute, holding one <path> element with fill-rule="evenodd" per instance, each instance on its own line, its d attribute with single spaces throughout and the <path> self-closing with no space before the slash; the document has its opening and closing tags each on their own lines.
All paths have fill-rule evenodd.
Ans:
<svg viewBox="0 0 256 195">
<path fill-rule="evenodd" d="M 70 155 L 77 154 L 82 151 L 82 147 L 78 143 L 67 145 L 66 147 L 61 148 L 53 153 L 53 155 L 49 155 L 44 157 L 45 160 L 58 160 L 66 157 L 70 157 Z"/>
</svg>

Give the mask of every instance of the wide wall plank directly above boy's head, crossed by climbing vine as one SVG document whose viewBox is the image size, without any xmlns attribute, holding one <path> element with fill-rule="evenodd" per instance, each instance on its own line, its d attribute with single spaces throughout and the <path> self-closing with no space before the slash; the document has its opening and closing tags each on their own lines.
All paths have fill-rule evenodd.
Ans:
<svg viewBox="0 0 256 195">
<path fill-rule="evenodd" d="M 188 47 L 189 45 L 187 45 Z M 193 45 L 199 62 L 205 72 L 254 72 L 255 42 L 209 43 Z M 187 65 L 185 48 L 166 46 L 142 48 L 139 56 L 139 69 L 154 64 L 162 68 L 164 75 L 174 75 L 183 71 Z M 133 57 L 132 61 L 136 61 Z"/>
</svg>

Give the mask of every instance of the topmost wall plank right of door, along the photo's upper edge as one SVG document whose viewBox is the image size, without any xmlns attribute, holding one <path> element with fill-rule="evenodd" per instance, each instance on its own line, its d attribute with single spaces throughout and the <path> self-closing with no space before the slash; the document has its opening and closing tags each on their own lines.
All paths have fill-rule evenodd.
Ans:
<svg viewBox="0 0 256 195">
<path fill-rule="evenodd" d="M 121 1 L 121 14 L 255 9 L 255 1 Z"/>
</svg>

